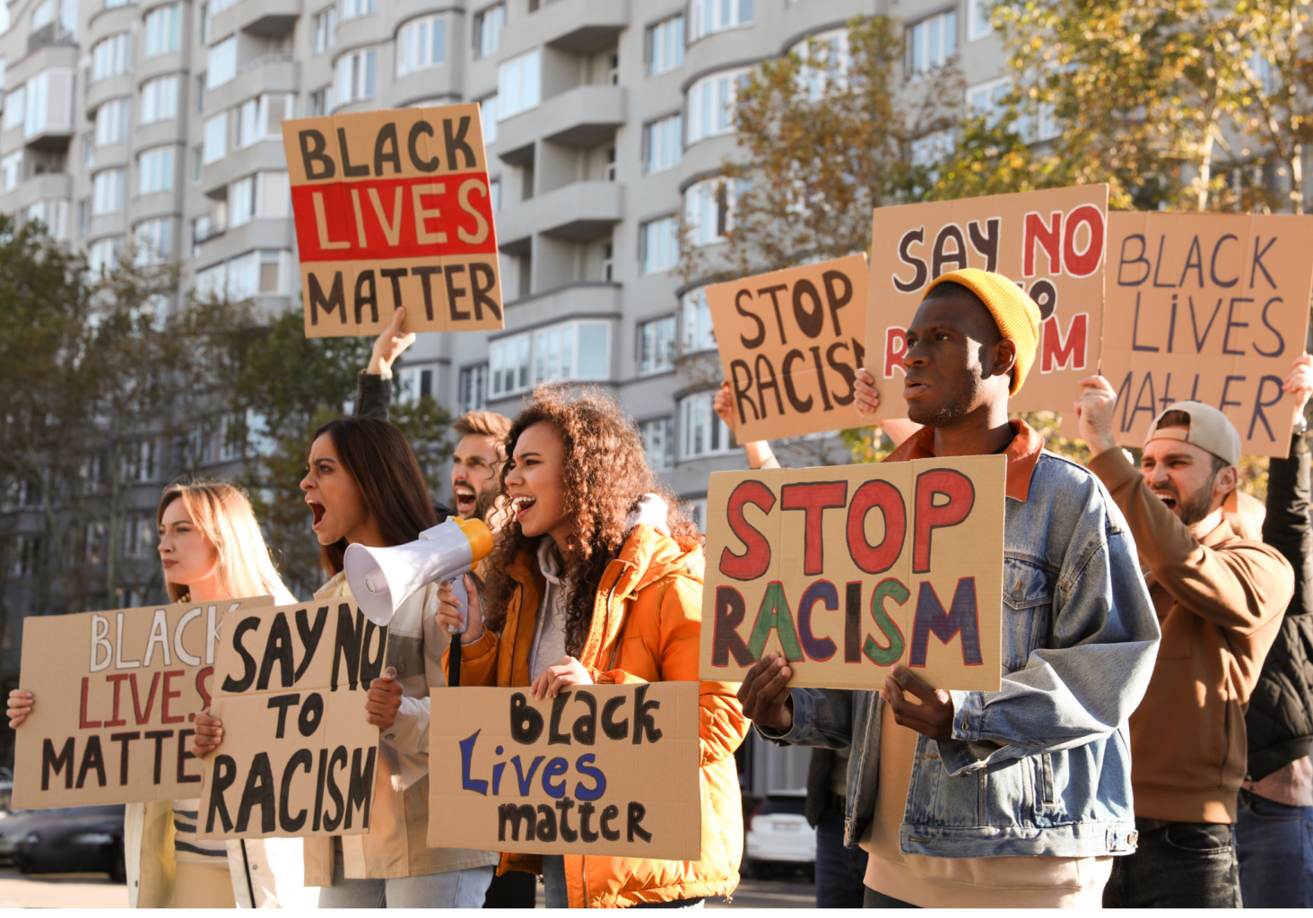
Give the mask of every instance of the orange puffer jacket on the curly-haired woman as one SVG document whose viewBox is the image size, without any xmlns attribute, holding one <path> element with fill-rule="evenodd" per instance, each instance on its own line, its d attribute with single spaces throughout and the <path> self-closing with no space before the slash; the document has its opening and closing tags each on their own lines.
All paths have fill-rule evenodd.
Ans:
<svg viewBox="0 0 1313 918">
<path fill-rule="evenodd" d="M 597 684 L 697 682 L 702 549 L 650 525 L 635 527 L 597 586 L 592 628 L 579 661 Z M 461 654 L 462 686 L 528 686 L 529 647 L 542 599 L 537 557 L 511 565 L 520 584 L 500 634 L 484 630 Z M 444 662 L 445 667 L 445 662 Z M 734 750 L 747 734 L 735 686 L 704 682 L 701 714 L 702 856 L 697 862 L 566 855 L 571 909 L 729 896 L 743 854 L 743 805 Z M 537 855 L 503 854 L 499 873 L 541 872 Z"/>
</svg>

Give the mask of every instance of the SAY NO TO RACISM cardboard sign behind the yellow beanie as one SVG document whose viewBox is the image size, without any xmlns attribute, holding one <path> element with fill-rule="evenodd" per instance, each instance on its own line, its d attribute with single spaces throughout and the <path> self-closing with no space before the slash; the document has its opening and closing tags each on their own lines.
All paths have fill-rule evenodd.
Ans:
<svg viewBox="0 0 1313 918">
<path fill-rule="evenodd" d="M 867 314 L 876 416 L 907 416 L 907 326 L 928 282 L 960 268 L 1006 274 L 1040 307 L 1035 366 L 1008 410 L 1070 411 L 1075 381 L 1099 365 L 1107 214 L 1107 185 L 877 208 Z"/>
</svg>

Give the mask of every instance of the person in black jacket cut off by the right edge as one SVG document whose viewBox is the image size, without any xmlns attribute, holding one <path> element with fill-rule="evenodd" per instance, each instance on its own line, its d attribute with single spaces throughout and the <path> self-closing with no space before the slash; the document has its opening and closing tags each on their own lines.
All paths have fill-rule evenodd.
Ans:
<svg viewBox="0 0 1313 918">
<path fill-rule="evenodd" d="M 1308 398 L 1313 359 L 1300 357 L 1284 387 Z M 1295 569 L 1295 598 L 1245 714 L 1249 775 L 1239 792 L 1236 856 L 1246 909 L 1313 907 L 1313 528 L 1305 428 L 1300 412 L 1289 457 L 1274 457 L 1267 468 L 1263 541 Z"/>
</svg>

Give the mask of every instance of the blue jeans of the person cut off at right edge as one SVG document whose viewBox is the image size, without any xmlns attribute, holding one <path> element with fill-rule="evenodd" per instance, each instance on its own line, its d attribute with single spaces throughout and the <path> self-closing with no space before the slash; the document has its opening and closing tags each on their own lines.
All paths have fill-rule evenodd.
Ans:
<svg viewBox="0 0 1313 918">
<path fill-rule="evenodd" d="M 1246 909 L 1313 909 L 1313 806 L 1241 791 L 1236 854 Z"/>
</svg>

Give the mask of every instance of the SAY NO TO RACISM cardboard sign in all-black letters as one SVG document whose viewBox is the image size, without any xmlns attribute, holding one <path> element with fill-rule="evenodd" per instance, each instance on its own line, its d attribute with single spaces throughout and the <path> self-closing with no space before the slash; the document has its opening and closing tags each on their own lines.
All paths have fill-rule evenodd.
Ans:
<svg viewBox="0 0 1313 918">
<path fill-rule="evenodd" d="M 387 629 L 349 599 L 240 611 L 223 623 L 205 758 L 201 838 L 361 835 L 378 771 L 365 692 Z"/>
</svg>

